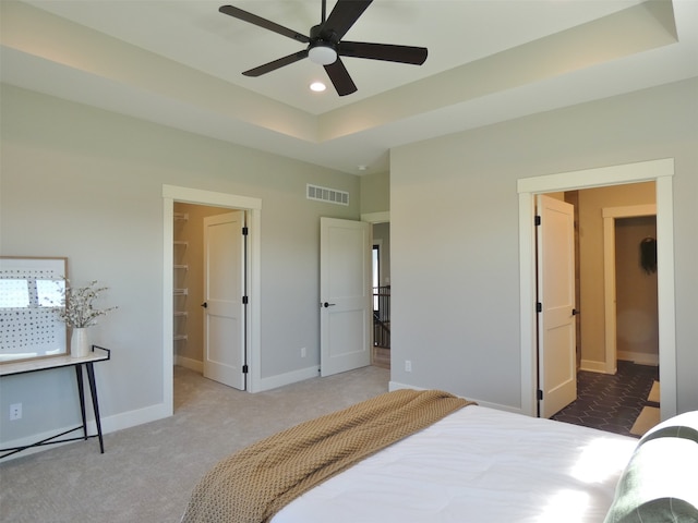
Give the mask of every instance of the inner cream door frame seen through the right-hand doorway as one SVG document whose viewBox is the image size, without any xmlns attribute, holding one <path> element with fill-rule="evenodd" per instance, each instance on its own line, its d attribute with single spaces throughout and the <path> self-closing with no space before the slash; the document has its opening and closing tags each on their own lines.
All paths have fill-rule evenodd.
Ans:
<svg viewBox="0 0 698 523">
<path fill-rule="evenodd" d="M 604 207 L 603 216 L 603 301 L 605 314 L 605 374 L 616 372 L 616 307 L 615 307 L 615 220 L 638 216 L 657 216 L 657 205 Z M 659 236 L 659 234 L 658 234 Z"/>
</svg>

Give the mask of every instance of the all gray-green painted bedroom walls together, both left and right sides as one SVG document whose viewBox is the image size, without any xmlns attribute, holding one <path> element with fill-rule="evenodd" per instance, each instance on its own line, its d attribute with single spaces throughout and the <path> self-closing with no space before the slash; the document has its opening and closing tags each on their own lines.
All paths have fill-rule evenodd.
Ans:
<svg viewBox="0 0 698 523">
<path fill-rule="evenodd" d="M 673 157 L 678 410 L 698 409 L 697 89 L 683 82 L 393 150 L 392 379 L 520 405 L 516 181 Z M 318 218 L 387 210 L 360 209 L 357 177 L 13 87 L 1 104 L 0 254 L 68 256 L 75 282 L 98 279 L 120 307 L 93 331 L 113 350 L 97 365 L 108 428 L 148 421 L 164 401 L 163 184 L 263 200 L 262 376 L 318 363 Z M 309 202 L 305 183 L 349 191 L 351 206 Z M 1 441 L 76 421 L 71 373 L 43 374 L 0 382 L 0 412 L 24 404 L 22 422 L 0 416 Z"/>
</svg>

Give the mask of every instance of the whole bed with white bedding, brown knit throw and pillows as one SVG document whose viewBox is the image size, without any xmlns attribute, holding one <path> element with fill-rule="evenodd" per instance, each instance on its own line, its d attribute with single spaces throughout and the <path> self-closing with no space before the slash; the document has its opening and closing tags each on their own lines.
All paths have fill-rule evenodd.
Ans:
<svg viewBox="0 0 698 523">
<path fill-rule="evenodd" d="M 638 440 L 464 401 L 392 392 L 273 435 L 182 522 L 698 523 L 698 411 Z"/>
</svg>

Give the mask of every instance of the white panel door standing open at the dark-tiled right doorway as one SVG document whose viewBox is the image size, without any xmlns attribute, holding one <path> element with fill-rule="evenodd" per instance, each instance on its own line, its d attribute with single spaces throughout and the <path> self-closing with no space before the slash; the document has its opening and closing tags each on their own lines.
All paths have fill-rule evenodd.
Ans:
<svg viewBox="0 0 698 523">
<path fill-rule="evenodd" d="M 550 417 L 577 399 L 575 353 L 575 208 L 538 196 L 540 413 Z"/>
</svg>

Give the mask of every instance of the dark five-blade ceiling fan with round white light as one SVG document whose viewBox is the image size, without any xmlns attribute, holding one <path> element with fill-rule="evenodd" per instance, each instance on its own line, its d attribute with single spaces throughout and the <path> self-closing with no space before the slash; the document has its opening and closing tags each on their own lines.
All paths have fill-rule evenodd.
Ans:
<svg viewBox="0 0 698 523">
<path fill-rule="evenodd" d="M 339 96 L 350 95 L 357 90 L 347 68 L 339 57 L 368 58 L 388 62 L 411 63 L 421 65 L 426 60 L 426 48 L 396 46 L 390 44 L 370 44 L 365 41 L 346 41 L 341 38 L 359 20 L 373 0 L 337 0 L 335 8 L 326 14 L 326 0 L 322 0 L 321 23 L 311 27 L 310 36 L 297 33 L 282 25 L 249 13 L 232 5 L 221 5 L 218 11 L 250 24 L 308 44 L 308 48 L 273 62 L 244 71 L 245 76 L 261 76 L 293 62 L 310 58 L 311 61 L 324 65 Z"/>
</svg>

